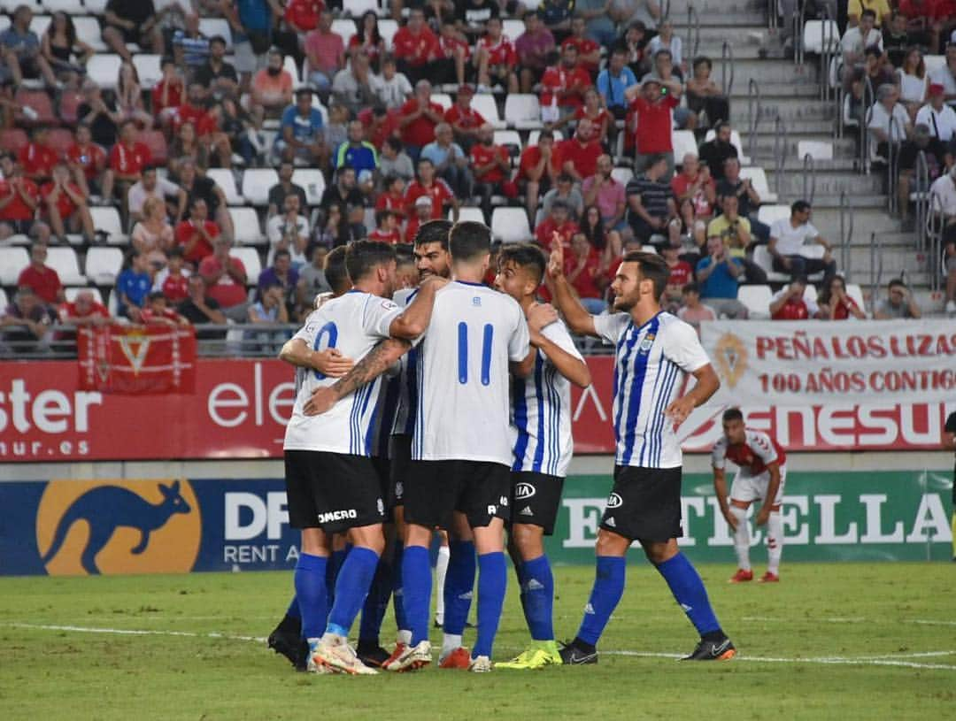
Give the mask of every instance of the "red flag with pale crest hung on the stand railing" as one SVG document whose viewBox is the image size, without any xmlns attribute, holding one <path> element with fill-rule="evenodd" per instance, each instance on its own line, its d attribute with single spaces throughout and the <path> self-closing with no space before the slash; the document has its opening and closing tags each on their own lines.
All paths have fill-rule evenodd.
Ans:
<svg viewBox="0 0 956 721">
<path fill-rule="evenodd" d="M 76 331 L 82 391 L 192 393 L 196 390 L 196 330 L 191 326 L 120 326 Z"/>
</svg>

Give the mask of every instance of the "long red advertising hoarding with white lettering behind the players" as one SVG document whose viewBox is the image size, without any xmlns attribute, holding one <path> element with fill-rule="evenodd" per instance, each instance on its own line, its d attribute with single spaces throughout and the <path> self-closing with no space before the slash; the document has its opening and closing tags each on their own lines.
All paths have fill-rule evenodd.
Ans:
<svg viewBox="0 0 956 721">
<path fill-rule="evenodd" d="M 588 358 L 594 385 L 575 392 L 576 453 L 614 452 L 613 365 Z M 0 364 L 0 462 L 277 458 L 293 406 L 293 372 L 277 360 L 200 359 L 192 394 L 87 390 L 75 361 Z M 709 450 L 723 406 L 684 423 L 684 449 Z M 950 403 L 846 402 L 745 407 L 748 425 L 790 451 L 937 449 Z"/>
</svg>

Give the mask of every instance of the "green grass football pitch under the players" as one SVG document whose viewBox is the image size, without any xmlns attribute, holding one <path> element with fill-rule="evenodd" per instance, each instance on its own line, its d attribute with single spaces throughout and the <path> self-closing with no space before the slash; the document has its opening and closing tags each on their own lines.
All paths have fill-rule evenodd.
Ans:
<svg viewBox="0 0 956 721">
<path fill-rule="evenodd" d="M 256 640 L 285 609 L 291 573 L 2 579 L 0 718 L 953 718 L 954 563 L 785 563 L 784 582 L 766 586 L 704 565 L 740 656 L 680 664 L 670 656 L 696 635 L 663 580 L 631 562 L 597 666 L 484 675 L 293 672 Z M 593 569 L 555 576 L 555 630 L 571 638 Z M 527 640 L 509 581 L 498 660 Z M 383 640 L 393 631 L 389 616 Z"/>
</svg>

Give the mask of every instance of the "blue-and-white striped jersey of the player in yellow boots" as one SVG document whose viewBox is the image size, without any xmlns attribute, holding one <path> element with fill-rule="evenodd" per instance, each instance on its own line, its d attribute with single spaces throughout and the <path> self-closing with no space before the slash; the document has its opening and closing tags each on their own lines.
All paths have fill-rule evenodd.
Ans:
<svg viewBox="0 0 956 721">
<path fill-rule="evenodd" d="M 561 350 L 583 360 L 561 321 L 541 330 Z M 571 436 L 571 381 L 561 375 L 541 350 L 528 378 L 511 380 L 512 471 L 566 477 L 575 442 Z"/>
</svg>

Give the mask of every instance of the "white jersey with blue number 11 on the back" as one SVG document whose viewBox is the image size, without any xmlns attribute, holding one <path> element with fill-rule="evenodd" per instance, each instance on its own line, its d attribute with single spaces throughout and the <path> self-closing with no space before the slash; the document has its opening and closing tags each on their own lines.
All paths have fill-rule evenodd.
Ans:
<svg viewBox="0 0 956 721">
<path fill-rule="evenodd" d="M 418 351 L 412 458 L 511 468 L 509 362 L 529 352 L 517 301 L 481 284 L 449 283 L 435 295 Z"/>
</svg>

